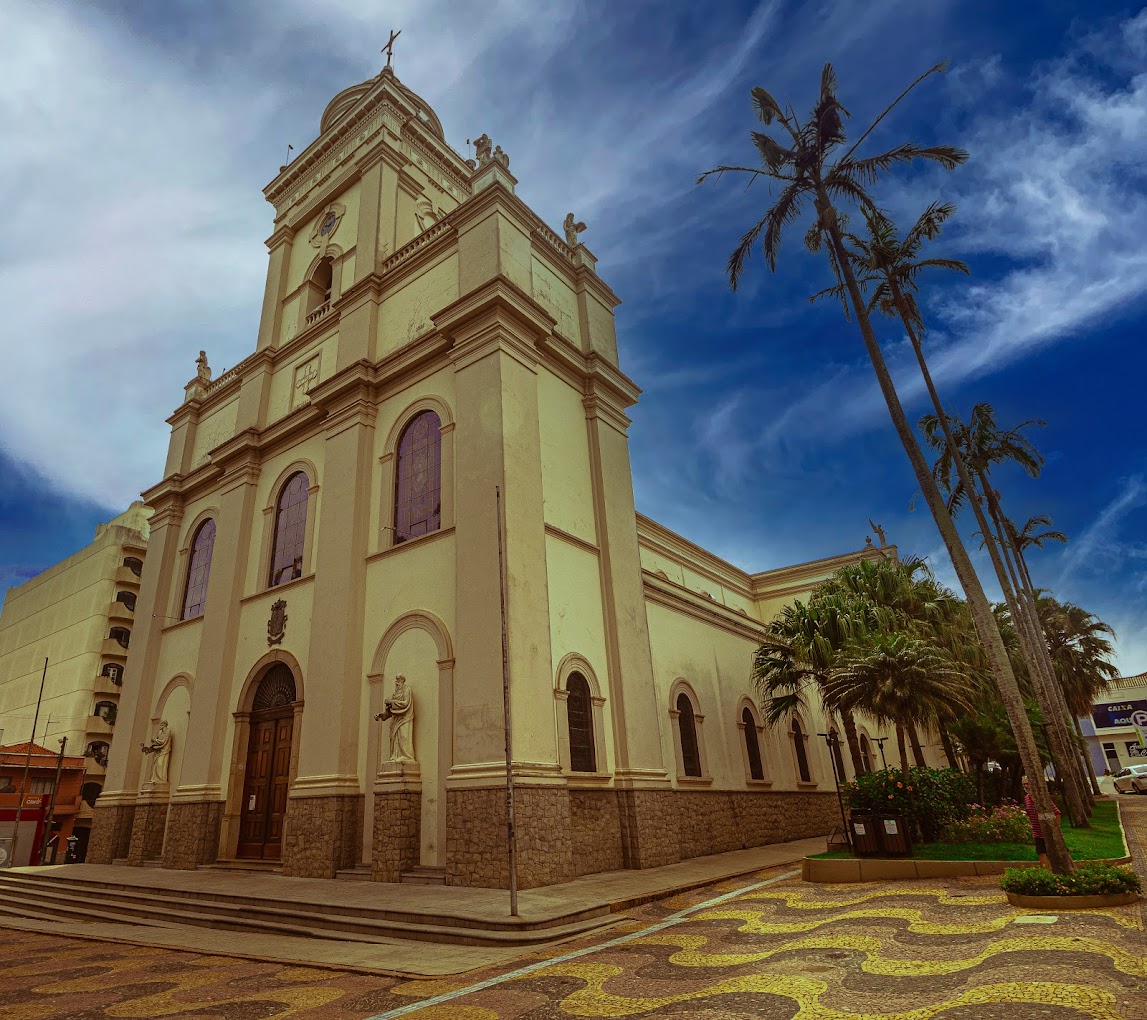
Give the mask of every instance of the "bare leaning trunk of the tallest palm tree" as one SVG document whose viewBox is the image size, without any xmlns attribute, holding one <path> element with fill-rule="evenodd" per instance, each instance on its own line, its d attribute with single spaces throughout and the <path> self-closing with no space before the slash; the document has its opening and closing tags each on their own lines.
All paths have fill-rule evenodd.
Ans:
<svg viewBox="0 0 1147 1020">
<path fill-rule="evenodd" d="M 884 361 L 884 356 L 880 349 L 880 344 L 876 342 L 876 334 L 873 332 L 872 322 L 868 319 L 868 311 L 860 294 L 860 287 L 849 264 L 836 210 L 833 208 L 833 203 L 819 178 L 817 179 L 817 212 L 820 218 L 820 225 L 832 247 L 837 272 L 841 274 L 848 290 L 852 310 L 857 317 L 857 325 L 860 328 L 860 335 L 864 337 L 868 358 L 872 360 L 873 369 L 876 373 L 876 381 L 880 384 L 889 414 L 892 418 L 892 425 L 896 427 L 904 451 L 912 464 L 912 469 L 915 474 L 916 483 L 920 485 L 920 491 L 923 492 L 924 501 L 928 504 L 941 537 L 944 539 L 944 545 L 952 559 L 955 575 L 968 599 L 968 607 L 976 625 L 976 633 L 984 645 L 992 672 L 996 675 L 996 683 L 1000 690 L 1000 699 L 1012 723 L 1012 732 L 1015 734 L 1020 757 L 1028 774 L 1031 776 L 1032 797 L 1036 802 L 1037 817 L 1047 841 L 1048 861 L 1054 871 L 1068 874 L 1071 871 L 1071 856 L 1068 854 L 1067 844 L 1063 842 L 1063 834 L 1055 824 L 1055 808 L 1047 792 L 1047 784 L 1044 781 L 1044 770 L 1039 761 L 1039 752 L 1036 748 L 1036 739 L 1024 711 L 1023 699 L 1020 695 L 1020 685 L 1016 683 L 1015 675 L 1012 672 L 1012 664 L 1007 659 L 1004 639 L 996 626 L 988 597 L 984 594 L 980 578 L 972 566 L 968 551 L 963 547 L 960 532 L 952 522 L 952 517 L 941 496 L 939 486 L 931 476 L 920 444 L 916 442 L 912 427 L 908 425 L 900 398 L 896 392 L 896 387 L 888 371 L 888 365 Z M 941 415 L 941 420 L 945 420 L 943 414 Z"/>
</svg>

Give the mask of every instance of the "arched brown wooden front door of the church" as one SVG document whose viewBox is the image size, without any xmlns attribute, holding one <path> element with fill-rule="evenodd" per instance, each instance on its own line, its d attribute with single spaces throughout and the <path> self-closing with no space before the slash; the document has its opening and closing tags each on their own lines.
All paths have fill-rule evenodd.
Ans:
<svg viewBox="0 0 1147 1020">
<path fill-rule="evenodd" d="M 282 662 L 264 673 L 255 691 L 243 770 L 239 857 L 278 861 L 282 856 L 291 738 L 295 733 L 295 675 Z"/>
</svg>

